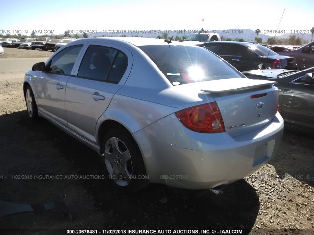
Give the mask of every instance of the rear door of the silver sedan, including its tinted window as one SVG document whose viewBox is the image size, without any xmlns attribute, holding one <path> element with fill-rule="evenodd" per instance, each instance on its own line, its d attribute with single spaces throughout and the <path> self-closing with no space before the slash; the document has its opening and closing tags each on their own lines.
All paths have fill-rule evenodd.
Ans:
<svg viewBox="0 0 314 235">
<path fill-rule="evenodd" d="M 131 71 L 131 58 L 131 52 L 125 47 L 105 43 L 88 45 L 77 75 L 67 83 L 65 109 L 68 128 L 85 140 L 96 143 L 97 120 L 123 86 Z"/>
</svg>

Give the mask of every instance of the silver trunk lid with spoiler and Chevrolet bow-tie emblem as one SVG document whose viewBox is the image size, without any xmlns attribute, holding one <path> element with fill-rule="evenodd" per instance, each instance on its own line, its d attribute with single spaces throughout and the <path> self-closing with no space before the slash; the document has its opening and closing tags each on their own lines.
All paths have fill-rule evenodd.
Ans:
<svg viewBox="0 0 314 235">
<path fill-rule="evenodd" d="M 211 81 L 201 91 L 210 94 L 230 136 L 241 135 L 272 121 L 277 113 L 277 82 L 247 78 Z"/>
</svg>

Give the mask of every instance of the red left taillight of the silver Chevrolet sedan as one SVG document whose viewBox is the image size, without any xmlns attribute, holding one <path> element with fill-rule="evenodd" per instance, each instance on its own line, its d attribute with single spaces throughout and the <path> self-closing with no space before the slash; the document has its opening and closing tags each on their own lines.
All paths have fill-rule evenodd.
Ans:
<svg viewBox="0 0 314 235">
<path fill-rule="evenodd" d="M 216 102 L 186 108 L 175 114 L 180 122 L 192 131 L 202 133 L 225 131 L 224 122 Z"/>
</svg>

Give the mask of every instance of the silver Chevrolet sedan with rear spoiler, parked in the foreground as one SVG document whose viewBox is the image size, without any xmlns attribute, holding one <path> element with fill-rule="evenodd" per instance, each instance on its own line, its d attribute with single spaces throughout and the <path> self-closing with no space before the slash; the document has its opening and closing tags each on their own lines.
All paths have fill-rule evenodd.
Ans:
<svg viewBox="0 0 314 235">
<path fill-rule="evenodd" d="M 219 190 L 278 149 L 284 123 L 274 84 L 201 47 L 108 37 L 73 41 L 35 64 L 23 91 L 28 116 L 98 152 L 117 188 Z"/>
</svg>

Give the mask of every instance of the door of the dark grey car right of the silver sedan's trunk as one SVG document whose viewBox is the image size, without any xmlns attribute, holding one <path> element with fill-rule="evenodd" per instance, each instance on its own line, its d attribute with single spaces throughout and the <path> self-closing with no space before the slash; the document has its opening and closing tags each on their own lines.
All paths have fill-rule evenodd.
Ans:
<svg viewBox="0 0 314 235">
<path fill-rule="evenodd" d="M 282 96 L 281 114 L 288 125 L 314 130 L 314 84 L 301 82 L 302 77 L 287 83 Z"/>
</svg>

